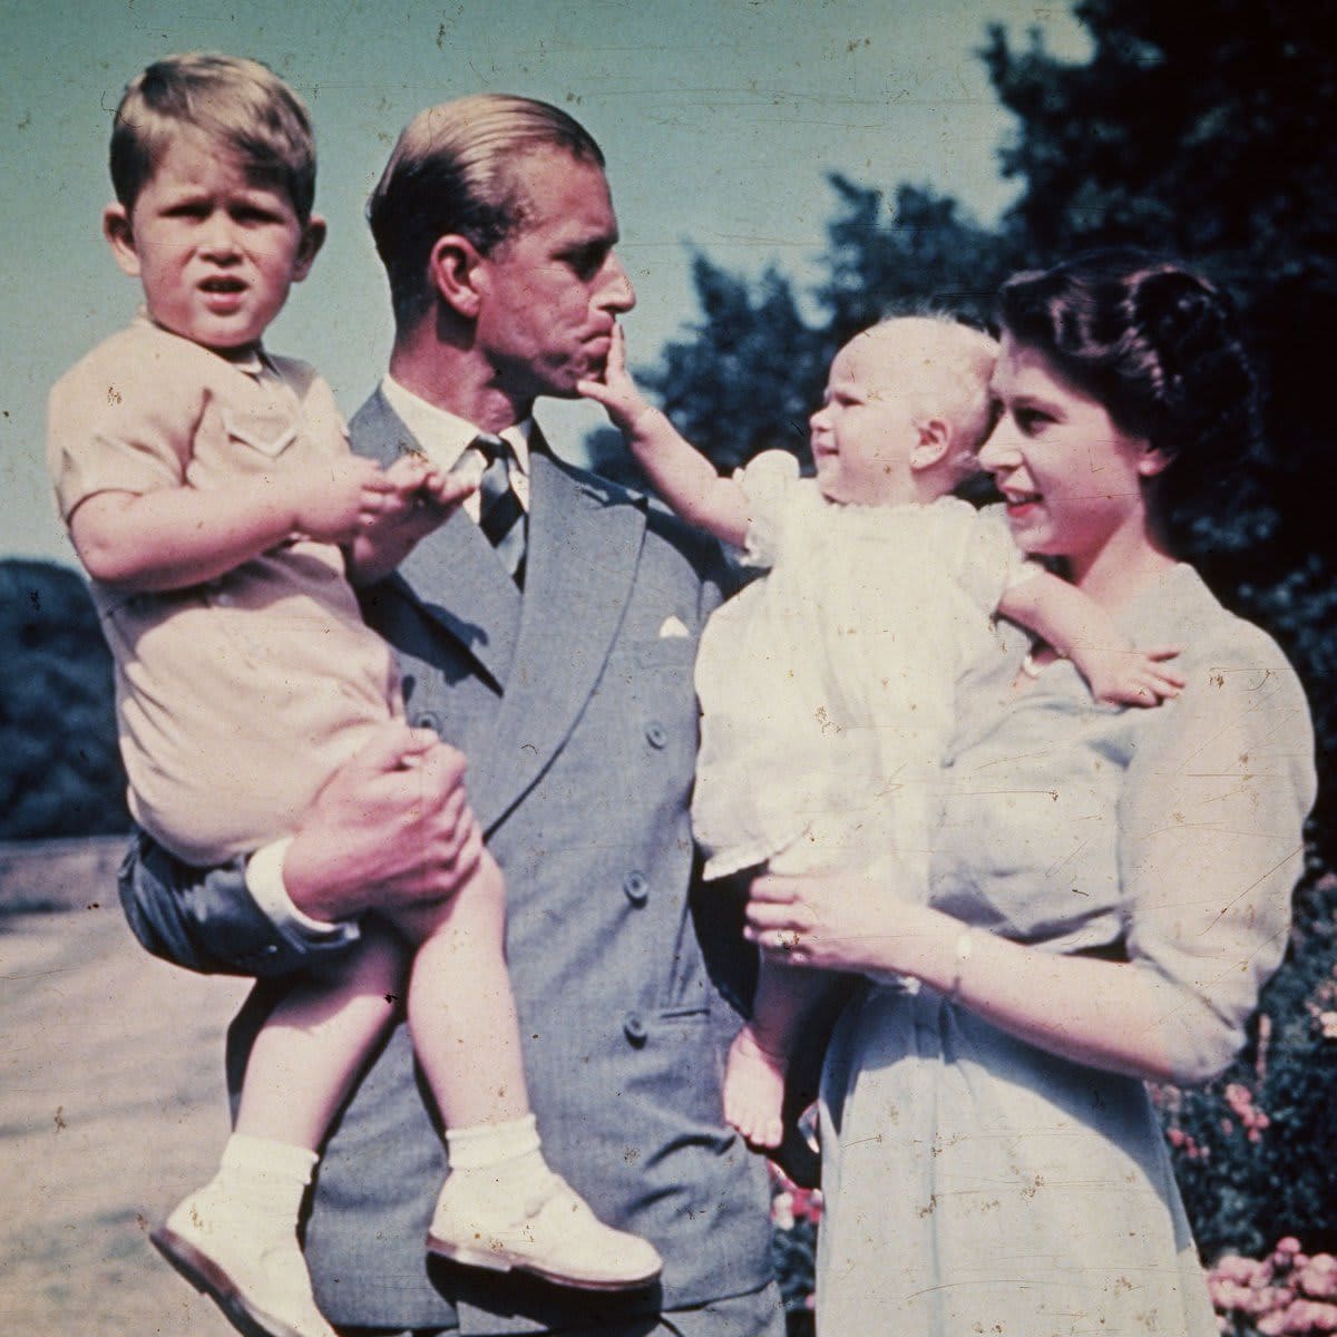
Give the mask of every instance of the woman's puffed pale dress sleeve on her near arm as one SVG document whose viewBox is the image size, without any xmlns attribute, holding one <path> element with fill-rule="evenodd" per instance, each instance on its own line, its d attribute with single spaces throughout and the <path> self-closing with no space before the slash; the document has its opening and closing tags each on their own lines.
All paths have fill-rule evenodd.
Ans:
<svg viewBox="0 0 1337 1337">
<path fill-rule="evenodd" d="M 1235 622 L 1186 668 L 1179 699 L 1140 717 L 1119 861 L 1130 960 L 1167 987 L 1177 1079 L 1201 1082 L 1243 1043 L 1285 953 L 1314 745 L 1294 671 L 1255 627 Z"/>
</svg>

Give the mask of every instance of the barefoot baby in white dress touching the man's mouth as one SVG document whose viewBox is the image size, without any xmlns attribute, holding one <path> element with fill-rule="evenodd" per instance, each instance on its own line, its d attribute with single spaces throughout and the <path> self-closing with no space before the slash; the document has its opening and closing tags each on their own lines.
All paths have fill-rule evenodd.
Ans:
<svg viewBox="0 0 1337 1337">
<path fill-rule="evenodd" d="M 1024 560 L 997 511 L 951 495 L 977 472 L 996 357 L 947 318 L 856 336 L 812 417 L 812 481 L 779 451 L 719 476 L 642 398 L 620 332 L 606 382 L 580 384 L 674 511 L 769 572 L 714 614 L 697 659 L 707 878 L 860 868 L 888 896 L 927 894 L 955 686 L 996 652 L 995 614 L 1071 656 L 1100 701 L 1152 706 L 1183 686 L 1163 662 L 1177 650 L 1134 651 L 1086 595 Z M 781 1143 L 789 1058 L 822 987 L 761 967 L 725 1076 L 725 1115 L 757 1146 Z"/>
</svg>

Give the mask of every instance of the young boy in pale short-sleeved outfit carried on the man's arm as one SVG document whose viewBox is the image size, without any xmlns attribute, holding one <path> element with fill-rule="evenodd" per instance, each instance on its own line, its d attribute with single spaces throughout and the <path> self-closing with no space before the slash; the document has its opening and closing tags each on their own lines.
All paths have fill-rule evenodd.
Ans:
<svg viewBox="0 0 1337 1337">
<path fill-rule="evenodd" d="M 388 575 L 472 488 L 417 457 L 382 472 L 352 456 L 329 386 L 261 342 L 325 237 L 306 111 L 269 70 L 150 66 L 116 110 L 111 174 L 103 227 L 144 309 L 56 384 L 48 457 L 115 658 L 131 810 L 191 864 L 261 850 L 281 869 L 282 837 L 350 757 L 431 762 L 437 739 L 404 725 L 353 584 Z M 658 1253 L 544 1162 L 504 915 L 484 850 L 456 896 L 369 917 L 269 1016 L 217 1177 L 154 1234 L 243 1332 L 334 1337 L 298 1213 L 405 993 L 451 1158 L 427 1247 L 600 1290 L 658 1275 Z"/>
</svg>

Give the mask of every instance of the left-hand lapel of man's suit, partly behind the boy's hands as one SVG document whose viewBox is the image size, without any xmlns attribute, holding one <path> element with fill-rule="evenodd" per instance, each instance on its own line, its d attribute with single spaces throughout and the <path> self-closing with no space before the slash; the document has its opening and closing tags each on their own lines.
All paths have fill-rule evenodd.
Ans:
<svg viewBox="0 0 1337 1337">
<path fill-rule="evenodd" d="M 353 444 L 389 464 L 416 441 L 380 390 L 352 422 Z M 499 689 L 515 659 L 520 591 L 479 527 L 456 511 L 400 563 L 393 578 L 460 640 Z"/>
</svg>

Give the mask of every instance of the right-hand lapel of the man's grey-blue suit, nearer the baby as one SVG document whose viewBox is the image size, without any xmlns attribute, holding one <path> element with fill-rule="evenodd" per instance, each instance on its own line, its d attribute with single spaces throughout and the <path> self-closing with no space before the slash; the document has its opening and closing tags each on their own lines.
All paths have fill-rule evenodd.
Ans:
<svg viewBox="0 0 1337 1337">
<path fill-rule="evenodd" d="M 519 643 L 487 757 L 469 758 L 484 828 L 544 770 L 590 699 L 635 580 L 644 503 L 554 459 L 535 433 Z"/>
</svg>

